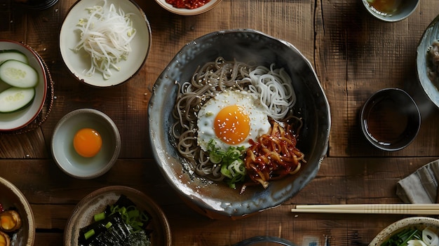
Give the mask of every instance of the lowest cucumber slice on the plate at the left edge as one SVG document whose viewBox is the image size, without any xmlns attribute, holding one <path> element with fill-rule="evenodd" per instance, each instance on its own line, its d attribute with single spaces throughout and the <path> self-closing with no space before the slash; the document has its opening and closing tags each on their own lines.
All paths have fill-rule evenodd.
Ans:
<svg viewBox="0 0 439 246">
<path fill-rule="evenodd" d="M 8 113 L 27 107 L 35 97 L 35 88 L 11 87 L 0 93 L 0 112 Z"/>
</svg>

